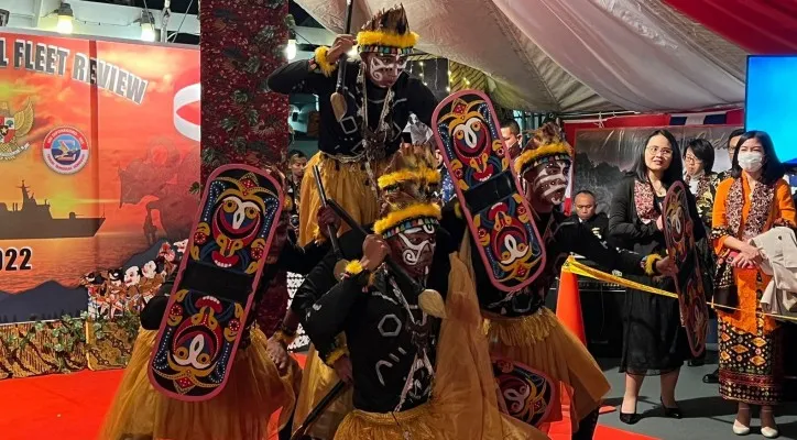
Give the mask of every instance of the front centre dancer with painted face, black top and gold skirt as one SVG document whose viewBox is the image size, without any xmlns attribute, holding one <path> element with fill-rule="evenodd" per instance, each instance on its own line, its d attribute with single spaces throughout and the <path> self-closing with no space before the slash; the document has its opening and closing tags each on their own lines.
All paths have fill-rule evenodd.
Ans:
<svg viewBox="0 0 797 440">
<path fill-rule="evenodd" d="M 354 409 L 336 440 L 545 438 L 498 409 L 476 294 L 439 229 L 438 184 L 430 152 L 403 147 L 379 179 L 375 234 L 354 238 L 362 256 L 302 317 L 328 364 L 350 359 L 338 371 Z"/>
</svg>

